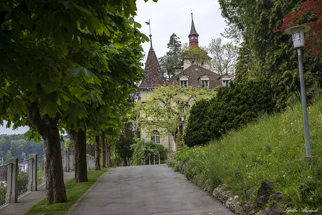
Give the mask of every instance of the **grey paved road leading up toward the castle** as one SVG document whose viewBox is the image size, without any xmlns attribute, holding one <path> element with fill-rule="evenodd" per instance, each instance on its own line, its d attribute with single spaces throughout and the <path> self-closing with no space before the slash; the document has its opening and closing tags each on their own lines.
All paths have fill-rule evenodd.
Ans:
<svg viewBox="0 0 322 215">
<path fill-rule="evenodd" d="M 112 169 L 73 215 L 233 215 L 207 192 L 164 164 Z"/>
</svg>

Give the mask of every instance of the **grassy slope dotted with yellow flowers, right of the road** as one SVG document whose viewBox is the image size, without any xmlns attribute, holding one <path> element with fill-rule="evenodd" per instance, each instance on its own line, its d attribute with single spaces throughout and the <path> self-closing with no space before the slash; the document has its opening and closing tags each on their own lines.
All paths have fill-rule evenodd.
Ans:
<svg viewBox="0 0 322 215">
<path fill-rule="evenodd" d="M 274 183 L 283 193 L 281 206 L 322 210 L 322 96 L 308 107 L 312 155 L 315 163 L 303 163 L 306 156 L 301 103 L 283 113 L 265 114 L 253 123 L 227 132 L 219 141 L 190 148 L 175 155 L 177 169 L 192 159 L 186 177 L 211 180 L 212 188 L 221 183 L 240 196 L 253 188 L 254 203 L 260 182 Z M 171 164 L 170 164 L 171 166 Z M 239 176 L 236 178 L 235 174 Z"/>
</svg>

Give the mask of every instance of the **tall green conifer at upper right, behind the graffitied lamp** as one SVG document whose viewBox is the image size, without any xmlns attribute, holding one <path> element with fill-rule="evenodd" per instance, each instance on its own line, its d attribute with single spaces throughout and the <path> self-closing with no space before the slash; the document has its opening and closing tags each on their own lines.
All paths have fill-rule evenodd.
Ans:
<svg viewBox="0 0 322 215">
<path fill-rule="evenodd" d="M 289 37 L 282 32 L 273 33 L 281 24 L 284 14 L 297 10 L 297 0 L 238 0 L 219 1 L 222 14 L 230 24 L 242 31 L 245 43 L 251 49 L 256 67 L 256 76 L 271 80 L 279 108 L 289 103 L 290 95 L 298 93 L 299 75 L 296 51 Z M 312 58 L 305 58 L 305 85 L 307 95 L 316 85 L 309 67 Z"/>
</svg>

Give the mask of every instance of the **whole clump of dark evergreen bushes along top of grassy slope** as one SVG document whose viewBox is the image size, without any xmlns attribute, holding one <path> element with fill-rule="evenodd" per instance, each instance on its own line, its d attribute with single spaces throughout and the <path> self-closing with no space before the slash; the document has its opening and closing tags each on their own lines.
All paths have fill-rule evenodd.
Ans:
<svg viewBox="0 0 322 215">
<path fill-rule="evenodd" d="M 189 147 L 205 144 L 257 118 L 260 112 L 272 112 L 273 97 L 270 81 L 262 78 L 231 82 L 230 86 L 219 88 L 215 97 L 199 100 L 191 107 L 185 144 Z"/>
</svg>

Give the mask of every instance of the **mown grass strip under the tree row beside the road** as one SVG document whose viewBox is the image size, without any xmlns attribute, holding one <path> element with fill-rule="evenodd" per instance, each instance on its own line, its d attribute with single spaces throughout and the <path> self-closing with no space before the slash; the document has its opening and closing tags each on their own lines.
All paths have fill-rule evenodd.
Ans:
<svg viewBox="0 0 322 215">
<path fill-rule="evenodd" d="M 67 200 L 66 203 L 57 203 L 46 206 L 46 199 L 32 206 L 24 215 L 64 215 L 95 181 L 111 168 L 102 168 L 99 171 L 87 171 L 88 182 L 74 184 L 74 178 L 65 183 Z"/>
</svg>

